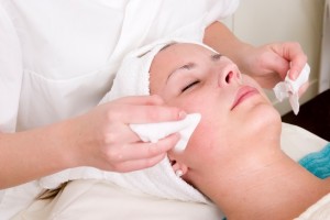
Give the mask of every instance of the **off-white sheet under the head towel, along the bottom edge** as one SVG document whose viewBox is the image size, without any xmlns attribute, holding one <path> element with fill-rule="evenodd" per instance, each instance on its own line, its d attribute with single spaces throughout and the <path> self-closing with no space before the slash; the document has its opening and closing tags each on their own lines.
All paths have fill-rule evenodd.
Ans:
<svg viewBox="0 0 330 220">
<path fill-rule="evenodd" d="M 215 205 L 161 199 L 106 180 L 76 180 L 53 200 L 33 202 L 11 220 L 221 220 Z"/>
</svg>

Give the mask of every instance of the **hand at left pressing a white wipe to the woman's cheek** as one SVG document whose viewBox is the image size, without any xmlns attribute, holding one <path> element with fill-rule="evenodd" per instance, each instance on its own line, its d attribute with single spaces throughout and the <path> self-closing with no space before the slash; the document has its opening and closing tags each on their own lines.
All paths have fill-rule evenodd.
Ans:
<svg viewBox="0 0 330 220">
<path fill-rule="evenodd" d="M 177 108 L 163 106 L 157 96 L 127 97 L 100 105 L 76 119 L 73 154 L 78 155 L 77 164 L 106 170 L 131 172 L 153 166 L 175 146 L 178 134 L 144 143 L 128 124 L 175 121 L 185 116 Z"/>
</svg>

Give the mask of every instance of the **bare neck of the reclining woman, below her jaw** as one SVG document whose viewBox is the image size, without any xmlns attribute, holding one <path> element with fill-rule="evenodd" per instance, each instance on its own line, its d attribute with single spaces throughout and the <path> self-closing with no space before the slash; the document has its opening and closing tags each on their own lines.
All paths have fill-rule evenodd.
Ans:
<svg viewBox="0 0 330 220">
<path fill-rule="evenodd" d="M 279 146 L 263 147 L 257 154 L 238 155 L 221 166 L 226 169 L 220 167 L 199 184 L 228 219 L 293 219 L 330 191 L 329 183 L 307 172 Z"/>
</svg>

